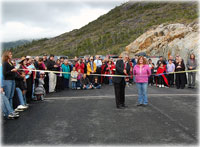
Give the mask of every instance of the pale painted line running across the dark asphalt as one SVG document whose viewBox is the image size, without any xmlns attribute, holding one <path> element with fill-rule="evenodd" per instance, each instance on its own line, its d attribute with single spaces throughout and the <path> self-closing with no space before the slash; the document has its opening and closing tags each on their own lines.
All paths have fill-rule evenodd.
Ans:
<svg viewBox="0 0 200 147">
<path fill-rule="evenodd" d="M 200 94 L 148 94 L 148 96 L 199 96 Z M 138 94 L 131 94 L 131 95 L 125 95 L 125 97 L 136 97 Z M 46 97 L 46 100 L 59 100 L 59 99 L 102 99 L 102 98 L 115 98 L 114 95 L 102 95 L 102 96 L 70 96 L 70 97 Z M 190 98 L 190 97 L 189 97 Z"/>
</svg>

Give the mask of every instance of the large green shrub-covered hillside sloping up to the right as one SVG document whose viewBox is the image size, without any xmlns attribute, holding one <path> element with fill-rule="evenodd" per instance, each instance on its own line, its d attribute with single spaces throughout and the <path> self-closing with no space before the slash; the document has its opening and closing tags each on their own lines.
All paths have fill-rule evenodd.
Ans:
<svg viewBox="0 0 200 147">
<path fill-rule="evenodd" d="M 197 2 L 127 2 L 86 26 L 51 39 L 33 41 L 13 49 L 15 57 L 63 54 L 120 54 L 151 27 L 160 24 L 189 24 L 198 18 Z"/>
</svg>

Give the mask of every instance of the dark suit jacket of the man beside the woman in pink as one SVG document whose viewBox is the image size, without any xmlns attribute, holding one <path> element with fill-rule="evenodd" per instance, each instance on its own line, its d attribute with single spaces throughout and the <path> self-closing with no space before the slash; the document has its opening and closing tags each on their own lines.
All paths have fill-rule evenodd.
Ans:
<svg viewBox="0 0 200 147">
<path fill-rule="evenodd" d="M 124 74 L 124 61 L 123 60 L 118 60 L 116 62 L 116 71 L 115 71 L 115 75 L 125 75 Z M 130 74 L 130 64 L 127 63 L 126 65 L 126 72 L 129 75 Z M 124 77 L 113 77 L 113 83 L 121 83 L 121 82 L 125 82 L 125 78 Z"/>
</svg>

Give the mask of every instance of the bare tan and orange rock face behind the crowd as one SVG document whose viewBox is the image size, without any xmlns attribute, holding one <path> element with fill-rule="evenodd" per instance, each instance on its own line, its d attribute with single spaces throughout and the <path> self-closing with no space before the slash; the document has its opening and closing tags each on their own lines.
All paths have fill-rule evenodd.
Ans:
<svg viewBox="0 0 200 147">
<path fill-rule="evenodd" d="M 185 24 L 161 24 L 156 28 L 142 34 L 134 42 L 126 46 L 125 51 L 130 57 L 139 52 L 145 52 L 148 56 L 164 56 L 179 54 L 184 60 L 188 54 L 199 54 L 198 22 Z"/>
</svg>

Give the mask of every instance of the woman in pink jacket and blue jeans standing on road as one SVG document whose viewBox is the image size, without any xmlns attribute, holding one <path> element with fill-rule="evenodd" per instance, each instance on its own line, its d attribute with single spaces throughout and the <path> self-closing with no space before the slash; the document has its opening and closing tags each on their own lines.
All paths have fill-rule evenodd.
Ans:
<svg viewBox="0 0 200 147">
<path fill-rule="evenodd" d="M 137 106 L 146 106 L 148 104 L 148 77 L 151 75 L 151 69 L 149 68 L 147 61 L 143 56 L 140 56 L 138 58 L 137 64 L 134 66 L 133 69 L 133 75 L 135 76 L 135 82 L 138 89 Z"/>
</svg>

